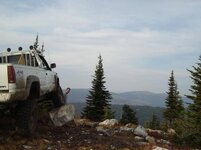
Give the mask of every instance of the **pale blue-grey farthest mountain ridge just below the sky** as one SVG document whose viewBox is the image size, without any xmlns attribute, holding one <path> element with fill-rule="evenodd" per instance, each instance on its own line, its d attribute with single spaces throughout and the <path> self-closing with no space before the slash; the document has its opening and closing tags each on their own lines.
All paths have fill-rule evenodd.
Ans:
<svg viewBox="0 0 201 150">
<path fill-rule="evenodd" d="M 86 96 L 89 94 L 88 89 L 72 89 L 68 95 L 69 103 L 85 103 Z M 128 104 L 128 105 L 140 105 L 140 106 L 153 106 L 164 107 L 166 94 L 164 93 L 152 93 L 149 91 L 130 91 L 123 93 L 112 94 L 112 104 Z"/>
</svg>

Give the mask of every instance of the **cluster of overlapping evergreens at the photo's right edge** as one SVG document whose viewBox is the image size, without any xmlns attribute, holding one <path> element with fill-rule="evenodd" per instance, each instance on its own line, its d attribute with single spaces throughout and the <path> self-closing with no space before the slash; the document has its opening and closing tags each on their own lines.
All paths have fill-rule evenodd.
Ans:
<svg viewBox="0 0 201 150">
<path fill-rule="evenodd" d="M 164 118 L 167 128 L 176 131 L 172 137 L 176 144 L 186 145 L 193 148 L 201 148 L 201 56 L 192 70 L 187 69 L 192 79 L 190 95 L 186 95 L 191 103 L 185 108 L 177 89 L 174 72 L 169 78 L 169 90 L 166 98 Z"/>
</svg>

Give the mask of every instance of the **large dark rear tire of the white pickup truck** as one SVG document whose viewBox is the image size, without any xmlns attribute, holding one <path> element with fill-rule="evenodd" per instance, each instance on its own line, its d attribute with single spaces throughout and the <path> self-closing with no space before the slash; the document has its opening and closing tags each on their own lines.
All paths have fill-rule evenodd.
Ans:
<svg viewBox="0 0 201 150">
<path fill-rule="evenodd" d="M 38 121 L 37 100 L 26 100 L 17 106 L 17 124 L 26 136 L 32 136 Z"/>
</svg>

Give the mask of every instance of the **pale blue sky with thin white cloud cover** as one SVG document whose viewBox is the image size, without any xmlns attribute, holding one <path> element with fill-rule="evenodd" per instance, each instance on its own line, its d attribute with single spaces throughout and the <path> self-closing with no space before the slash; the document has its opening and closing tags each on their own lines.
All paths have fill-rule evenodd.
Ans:
<svg viewBox="0 0 201 150">
<path fill-rule="evenodd" d="M 62 87 L 90 88 L 98 61 L 108 90 L 166 92 L 171 70 L 187 94 L 201 54 L 200 0 L 0 0 L 0 50 L 39 34 Z"/>
</svg>

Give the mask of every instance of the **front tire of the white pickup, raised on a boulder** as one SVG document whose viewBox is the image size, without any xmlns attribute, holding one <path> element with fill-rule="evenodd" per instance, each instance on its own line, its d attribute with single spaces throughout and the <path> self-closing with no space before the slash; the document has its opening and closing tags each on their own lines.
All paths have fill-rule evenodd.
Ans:
<svg viewBox="0 0 201 150">
<path fill-rule="evenodd" d="M 61 107 L 65 104 L 65 97 L 61 87 L 58 85 L 56 91 L 52 94 L 54 107 Z"/>
</svg>

